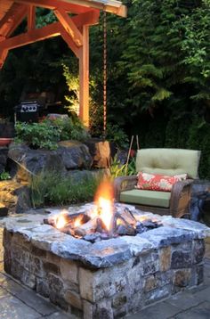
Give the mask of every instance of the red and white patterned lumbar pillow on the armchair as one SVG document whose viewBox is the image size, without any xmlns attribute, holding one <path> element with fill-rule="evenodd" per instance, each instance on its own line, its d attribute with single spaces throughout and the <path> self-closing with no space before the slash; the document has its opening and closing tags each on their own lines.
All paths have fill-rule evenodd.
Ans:
<svg viewBox="0 0 210 319">
<path fill-rule="evenodd" d="M 140 172 L 136 188 L 140 190 L 171 192 L 172 186 L 187 179 L 187 174 L 166 176 L 160 174 L 148 174 Z"/>
</svg>

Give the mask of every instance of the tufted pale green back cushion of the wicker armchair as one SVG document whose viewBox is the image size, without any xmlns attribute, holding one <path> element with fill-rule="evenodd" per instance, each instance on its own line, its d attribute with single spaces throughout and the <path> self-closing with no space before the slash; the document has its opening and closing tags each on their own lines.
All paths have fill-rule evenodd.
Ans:
<svg viewBox="0 0 210 319">
<path fill-rule="evenodd" d="M 187 173 L 198 177 L 200 151 L 182 149 L 141 149 L 136 156 L 136 171 L 174 176 Z"/>
</svg>

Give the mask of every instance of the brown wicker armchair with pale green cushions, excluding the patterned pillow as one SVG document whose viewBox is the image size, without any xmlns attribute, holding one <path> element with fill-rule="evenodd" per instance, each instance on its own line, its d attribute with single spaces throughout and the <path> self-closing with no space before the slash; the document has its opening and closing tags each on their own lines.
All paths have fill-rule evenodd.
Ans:
<svg viewBox="0 0 210 319">
<path fill-rule="evenodd" d="M 187 173 L 190 178 L 174 184 L 171 192 L 156 192 L 135 189 L 137 176 L 117 177 L 114 180 L 115 199 L 159 215 L 190 215 L 190 185 L 198 178 L 199 158 L 200 151 L 142 149 L 137 152 L 137 172 L 168 176 Z"/>
</svg>

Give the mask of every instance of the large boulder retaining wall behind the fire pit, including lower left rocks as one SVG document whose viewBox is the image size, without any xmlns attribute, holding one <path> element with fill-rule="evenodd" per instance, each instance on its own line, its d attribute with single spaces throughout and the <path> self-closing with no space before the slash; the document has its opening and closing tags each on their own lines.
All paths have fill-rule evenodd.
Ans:
<svg viewBox="0 0 210 319">
<path fill-rule="evenodd" d="M 10 211 L 22 213 L 31 207 L 27 184 L 32 175 L 56 171 L 76 181 L 92 175 L 94 169 L 108 168 L 111 151 L 108 142 L 90 140 L 86 144 L 63 141 L 55 151 L 33 150 L 27 145 L 10 144 L 0 148 L 0 174 L 10 170 L 12 181 L 0 182 L 0 202 Z"/>
</svg>

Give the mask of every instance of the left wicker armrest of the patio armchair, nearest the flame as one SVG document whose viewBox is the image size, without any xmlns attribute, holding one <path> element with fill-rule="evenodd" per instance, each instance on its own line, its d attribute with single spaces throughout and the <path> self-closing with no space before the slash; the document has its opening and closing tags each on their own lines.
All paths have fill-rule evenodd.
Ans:
<svg viewBox="0 0 210 319">
<path fill-rule="evenodd" d="M 115 200 L 119 201 L 120 192 L 133 190 L 137 184 L 137 176 L 122 176 L 114 179 L 114 196 Z"/>
</svg>

